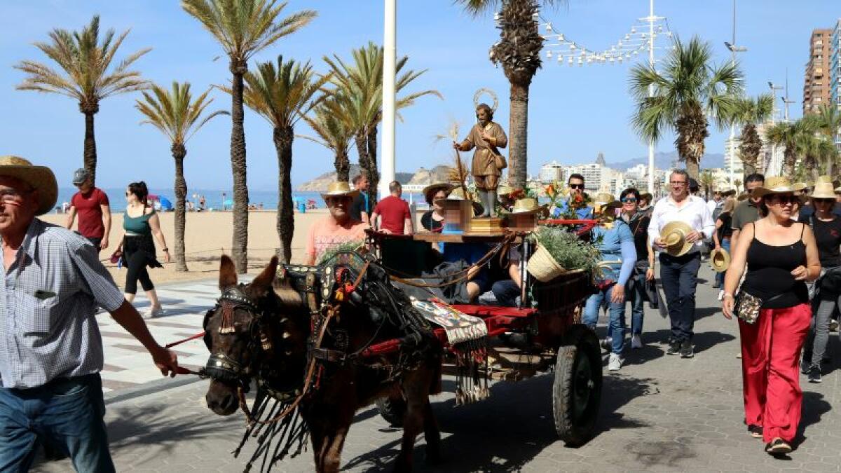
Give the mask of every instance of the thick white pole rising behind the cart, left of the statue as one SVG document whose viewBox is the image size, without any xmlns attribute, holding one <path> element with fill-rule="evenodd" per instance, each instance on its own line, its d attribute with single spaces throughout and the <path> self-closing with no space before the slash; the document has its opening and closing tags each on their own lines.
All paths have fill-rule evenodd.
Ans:
<svg viewBox="0 0 841 473">
<path fill-rule="evenodd" d="M 385 0 L 383 29 L 383 160 L 379 194 L 389 195 L 394 181 L 394 62 L 397 58 L 397 0 Z"/>
</svg>

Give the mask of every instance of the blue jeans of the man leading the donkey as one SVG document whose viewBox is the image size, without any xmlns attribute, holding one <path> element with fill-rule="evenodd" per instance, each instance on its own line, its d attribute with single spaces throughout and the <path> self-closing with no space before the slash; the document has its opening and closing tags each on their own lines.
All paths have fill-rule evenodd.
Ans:
<svg viewBox="0 0 841 473">
<path fill-rule="evenodd" d="M 0 471 L 27 471 L 42 438 L 77 471 L 114 471 L 99 375 L 53 380 L 32 389 L 0 388 Z"/>
</svg>

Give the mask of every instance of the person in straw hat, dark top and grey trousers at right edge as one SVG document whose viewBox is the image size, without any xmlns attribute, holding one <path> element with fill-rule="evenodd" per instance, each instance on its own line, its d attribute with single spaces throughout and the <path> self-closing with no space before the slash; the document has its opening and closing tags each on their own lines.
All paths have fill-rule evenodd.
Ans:
<svg viewBox="0 0 841 473">
<path fill-rule="evenodd" d="M 815 316 L 803 350 L 801 371 L 809 376 L 810 383 L 821 382 L 821 363 L 827 353 L 829 321 L 833 312 L 841 307 L 841 217 L 833 215 L 835 195 L 832 183 L 817 183 L 812 193 L 812 207 L 815 213 L 801 218 L 812 228 L 817 243 L 821 275 L 815 281 L 812 308 Z"/>
</svg>

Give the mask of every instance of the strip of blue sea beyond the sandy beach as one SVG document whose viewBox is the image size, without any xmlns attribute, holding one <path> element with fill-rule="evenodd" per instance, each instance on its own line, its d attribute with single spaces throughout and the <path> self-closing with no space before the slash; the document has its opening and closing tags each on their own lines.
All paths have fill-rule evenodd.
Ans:
<svg viewBox="0 0 841 473">
<path fill-rule="evenodd" d="M 108 194 L 108 201 L 111 204 L 112 212 L 122 212 L 125 210 L 125 188 L 119 189 L 102 189 L 105 194 Z M 61 204 L 70 202 L 73 194 L 76 194 L 76 188 L 59 188 L 58 200 L 56 207 L 61 209 Z M 172 189 L 149 189 L 149 194 L 160 195 L 169 199 L 172 204 L 175 204 L 175 193 Z M 212 210 L 230 210 L 233 205 L 233 191 L 219 190 L 219 189 L 188 189 L 187 198 L 193 201 L 193 204 L 198 206 L 198 199 L 204 195 L 204 202 L 208 209 Z M 293 199 L 303 200 L 306 203 L 308 200 L 315 201 L 315 207 L 324 209 L 324 199 L 321 199 L 321 194 L 318 192 L 293 192 Z M 251 204 L 260 205 L 264 210 L 275 210 L 278 208 L 278 192 L 267 190 L 250 190 L 248 191 L 248 199 Z M 423 204 L 426 206 L 421 194 L 404 193 L 403 199 L 410 203 Z"/>
</svg>

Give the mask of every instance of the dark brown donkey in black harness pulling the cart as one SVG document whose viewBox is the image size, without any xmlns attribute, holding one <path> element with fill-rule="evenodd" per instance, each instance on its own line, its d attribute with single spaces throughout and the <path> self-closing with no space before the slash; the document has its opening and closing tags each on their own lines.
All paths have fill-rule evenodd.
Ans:
<svg viewBox="0 0 841 473">
<path fill-rule="evenodd" d="M 426 460 L 440 460 L 441 434 L 429 402 L 431 393 L 440 392 L 440 346 L 415 340 L 412 347 L 395 353 L 358 356 L 363 348 L 406 335 L 405 329 L 371 316 L 378 301 L 369 300 L 368 293 L 376 291 L 362 284 L 357 290 L 361 295 L 336 306 L 323 338 L 313 347 L 309 308 L 297 290 L 278 282 L 277 269 L 278 259 L 272 258 L 250 284 L 237 284 L 234 263 L 227 256 L 221 258 L 222 295 L 204 322 L 211 353 L 206 368 L 211 378 L 208 407 L 222 416 L 236 412 L 245 406 L 242 392 L 251 380 L 288 393 L 309 428 L 315 469 L 338 471 L 357 409 L 386 396 L 399 399 L 402 393 L 403 442 L 394 469 L 411 470 L 415 437 L 421 431 L 426 435 Z M 312 348 L 318 347 L 333 354 L 315 356 Z M 346 357 L 336 360 L 336 353 Z M 271 460 L 283 454 L 272 454 Z"/>
</svg>

